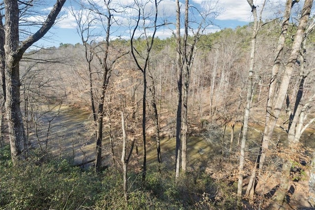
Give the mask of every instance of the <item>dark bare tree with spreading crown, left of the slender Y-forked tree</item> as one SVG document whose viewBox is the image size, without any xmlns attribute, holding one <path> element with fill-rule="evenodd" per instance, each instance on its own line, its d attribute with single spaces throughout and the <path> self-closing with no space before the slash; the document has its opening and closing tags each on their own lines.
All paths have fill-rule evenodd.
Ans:
<svg viewBox="0 0 315 210">
<path fill-rule="evenodd" d="M 103 117 L 104 117 L 104 104 L 106 89 L 111 77 L 111 71 L 114 68 L 116 62 L 128 52 L 121 50 L 120 48 L 114 49 L 110 44 L 110 35 L 112 33 L 112 25 L 117 23 L 114 18 L 113 13 L 117 13 L 115 8 L 112 8 L 113 2 L 111 0 L 104 1 L 104 5 L 98 5 L 92 0 L 87 1 L 88 6 L 81 5 L 83 8 L 88 8 L 92 11 L 91 14 L 88 11 L 88 20 L 82 19 L 82 13 L 80 12 L 76 15 L 76 20 L 78 23 L 78 32 L 81 36 L 82 42 L 86 50 L 86 60 L 88 63 L 88 71 L 90 78 L 90 96 L 94 120 L 96 123 L 96 157 L 95 157 L 95 171 L 100 171 L 102 165 L 102 139 L 103 139 Z M 82 10 L 81 10 L 82 11 Z M 103 27 L 105 38 L 103 41 L 97 43 L 95 40 L 96 34 L 92 34 L 92 26 L 94 24 L 100 24 Z M 89 43 L 89 42 L 90 43 Z M 116 52 L 115 52 L 116 50 Z M 101 87 L 100 87 L 100 99 L 98 104 L 97 113 L 94 105 L 94 94 L 93 94 L 93 79 L 91 62 L 93 60 L 93 55 L 97 58 L 98 65 L 101 68 Z"/>
</svg>

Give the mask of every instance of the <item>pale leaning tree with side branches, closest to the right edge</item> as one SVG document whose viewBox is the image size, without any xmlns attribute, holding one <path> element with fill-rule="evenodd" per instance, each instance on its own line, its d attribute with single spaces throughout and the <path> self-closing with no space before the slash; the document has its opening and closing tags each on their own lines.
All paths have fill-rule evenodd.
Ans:
<svg viewBox="0 0 315 210">
<path fill-rule="evenodd" d="M 315 100 L 315 90 L 312 88 L 309 92 L 309 96 L 305 96 L 307 93 L 305 91 L 306 85 L 307 85 L 307 79 L 312 71 L 308 70 L 307 65 L 307 59 L 306 59 L 306 42 L 308 35 L 313 32 L 314 30 L 314 20 L 311 19 L 310 24 L 308 24 L 308 27 L 306 28 L 306 31 L 303 35 L 303 41 L 301 43 L 301 48 L 299 52 L 298 59 L 296 62 L 299 64 L 298 73 L 299 73 L 299 79 L 298 79 L 298 85 L 297 91 L 294 93 L 295 101 L 293 103 L 290 102 L 289 97 L 289 90 L 286 94 L 286 110 L 288 112 L 288 128 L 285 129 L 287 133 L 287 139 L 288 139 L 288 147 L 289 150 L 284 150 L 285 155 L 284 158 L 284 164 L 283 164 L 283 177 L 281 179 L 281 184 L 279 189 L 277 190 L 275 196 L 274 196 L 274 206 L 277 208 L 278 206 L 282 206 L 285 202 L 285 196 L 286 192 L 290 183 L 290 170 L 292 167 L 292 162 L 296 161 L 296 157 L 298 157 L 298 150 L 299 150 L 299 141 L 301 138 L 301 135 L 303 132 L 315 121 L 315 118 L 311 118 L 308 120 L 308 114 L 310 112 L 310 108 L 312 105 L 314 105 Z M 312 91 L 313 90 L 313 91 Z M 292 105 L 291 105 L 292 104 Z M 308 120 L 308 122 L 306 122 Z M 297 161 L 296 161 L 297 162 Z"/>
</svg>

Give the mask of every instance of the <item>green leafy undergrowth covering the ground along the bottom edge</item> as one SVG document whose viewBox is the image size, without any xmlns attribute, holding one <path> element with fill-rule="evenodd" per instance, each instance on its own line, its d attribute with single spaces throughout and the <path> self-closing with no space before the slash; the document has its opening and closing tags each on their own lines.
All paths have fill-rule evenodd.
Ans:
<svg viewBox="0 0 315 210">
<path fill-rule="evenodd" d="M 197 168 L 175 182 L 174 172 L 153 164 L 144 185 L 141 175 L 130 170 L 126 202 L 119 167 L 95 174 L 37 151 L 13 166 L 9 146 L 4 146 L 0 148 L 0 209 L 235 209 L 235 187 L 215 181 Z"/>
</svg>

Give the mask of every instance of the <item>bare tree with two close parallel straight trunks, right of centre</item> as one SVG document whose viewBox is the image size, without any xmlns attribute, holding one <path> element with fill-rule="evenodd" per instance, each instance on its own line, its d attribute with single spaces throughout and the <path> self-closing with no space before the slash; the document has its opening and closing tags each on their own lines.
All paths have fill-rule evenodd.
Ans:
<svg viewBox="0 0 315 210">
<path fill-rule="evenodd" d="M 179 175 L 179 169 L 183 172 L 187 168 L 187 138 L 188 138 L 188 94 L 189 94 L 189 80 L 193 59 L 196 53 L 196 44 L 199 41 L 206 27 L 211 24 L 210 19 L 214 19 L 218 14 L 216 11 L 218 2 L 213 4 L 206 4 L 204 11 L 198 11 L 201 16 L 200 22 L 197 24 L 197 29 L 192 30 L 191 21 L 189 21 L 189 9 L 193 7 L 189 5 L 189 0 L 185 0 L 185 14 L 184 14 L 184 35 L 181 38 L 181 11 L 180 3 L 176 1 L 176 47 L 177 47 L 177 86 L 178 86 L 178 105 L 176 115 L 176 170 L 175 177 Z M 189 30 L 192 32 L 192 41 L 189 43 Z M 184 81 L 184 84 L 183 84 Z M 183 90 L 182 90 L 183 89 Z M 180 147 L 181 151 L 180 151 Z M 182 152 L 181 157 L 180 152 Z M 182 161 L 180 161 L 180 159 Z M 181 162 L 181 167 L 180 167 Z"/>
</svg>

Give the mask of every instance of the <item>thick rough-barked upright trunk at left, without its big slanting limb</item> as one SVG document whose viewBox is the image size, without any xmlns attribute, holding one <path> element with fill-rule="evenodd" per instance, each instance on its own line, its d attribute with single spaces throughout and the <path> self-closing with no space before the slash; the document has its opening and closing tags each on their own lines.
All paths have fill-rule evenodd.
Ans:
<svg viewBox="0 0 315 210">
<path fill-rule="evenodd" d="M 13 163 L 26 159 L 26 135 L 20 108 L 20 70 L 22 56 L 15 56 L 19 47 L 19 7 L 17 0 L 5 0 L 5 83 L 6 116 Z"/>
</svg>

